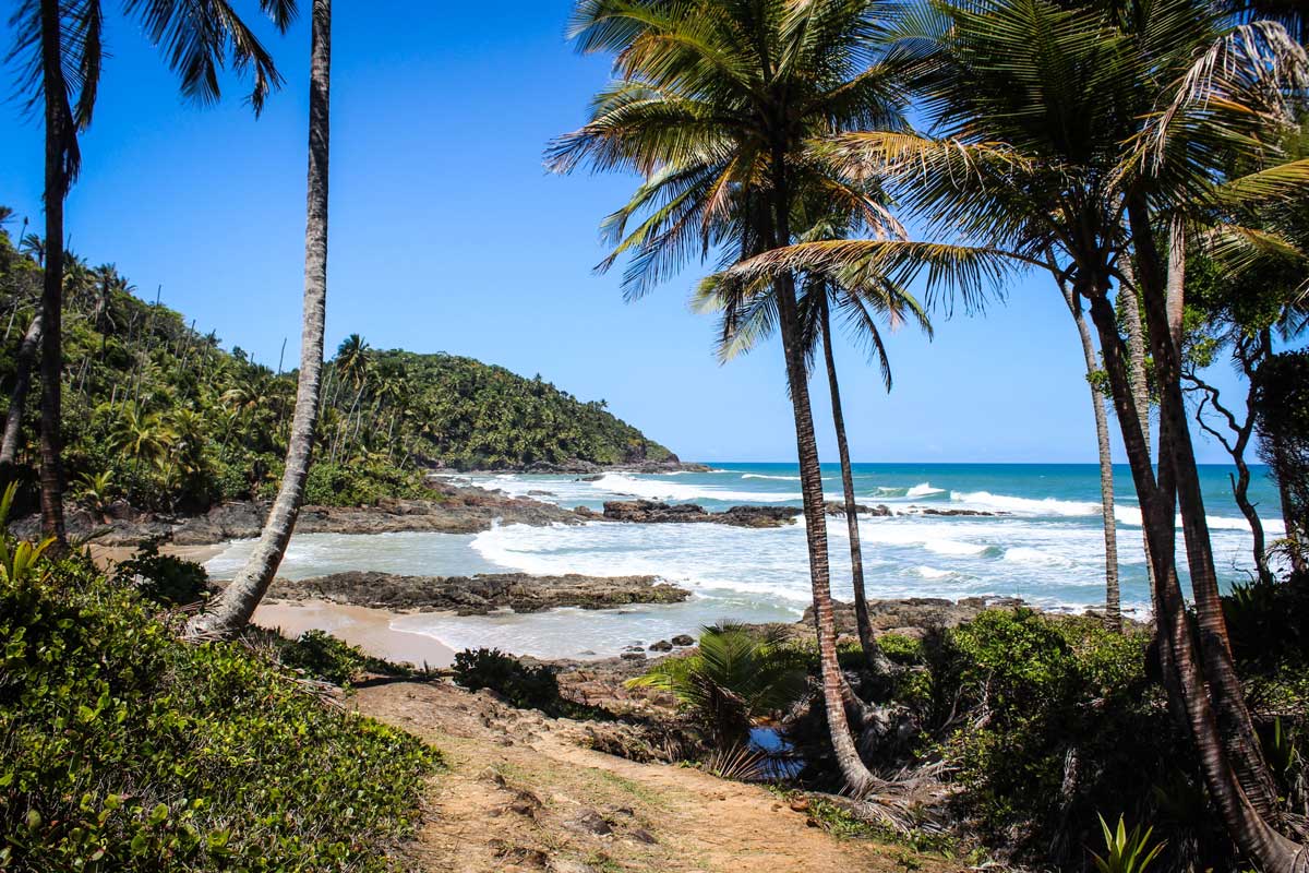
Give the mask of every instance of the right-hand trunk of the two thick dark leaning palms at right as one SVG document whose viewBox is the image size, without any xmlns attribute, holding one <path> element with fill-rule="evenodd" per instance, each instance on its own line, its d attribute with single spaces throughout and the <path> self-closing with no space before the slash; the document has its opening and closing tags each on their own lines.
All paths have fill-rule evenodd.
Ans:
<svg viewBox="0 0 1309 873">
<path fill-rule="evenodd" d="M 1195 450 L 1191 445 L 1190 419 L 1182 397 L 1181 351 L 1173 340 L 1174 309 L 1182 305 L 1179 300 L 1182 289 L 1179 283 L 1174 281 L 1173 294 L 1178 300 L 1174 300 L 1170 308 L 1169 289 L 1161 276 L 1161 259 L 1155 247 L 1153 229 L 1143 196 L 1138 195 L 1130 200 L 1128 221 L 1140 259 L 1141 300 L 1145 304 L 1155 381 L 1160 394 L 1160 478 L 1170 476 L 1177 488 L 1204 677 L 1213 698 L 1219 729 L 1241 788 L 1259 815 L 1271 821 L 1276 815 L 1276 788 L 1254 733 L 1254 722 L 1245 705 L 1241 682 L 1236 675 L 1213 567 L 1208 522 L 1204 517 L 1199 470 L 1195 466 Z M 1174 243 L 1172 258 L 1181 259 L 1178 251 L 1179 245 Z M 1174 650 L 1174 654 L 1179 653 Z"/>
</svg>

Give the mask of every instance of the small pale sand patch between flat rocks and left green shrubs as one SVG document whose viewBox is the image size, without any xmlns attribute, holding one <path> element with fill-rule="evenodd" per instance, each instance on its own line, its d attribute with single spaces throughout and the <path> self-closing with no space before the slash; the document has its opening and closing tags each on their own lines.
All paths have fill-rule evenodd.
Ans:
<svg viewBox="0 0 1309 873">
<path fill-rule="evenodd" d="M 326 631 L 357 645 L 369 654 L 415 666 L 448 668 L 454 649 L 425 633 L 397 631 L 394 613 L 329 601 L 264 602 L 254 613 L 254 623 L 296 637 L 305 631 Z"/>
</svg>

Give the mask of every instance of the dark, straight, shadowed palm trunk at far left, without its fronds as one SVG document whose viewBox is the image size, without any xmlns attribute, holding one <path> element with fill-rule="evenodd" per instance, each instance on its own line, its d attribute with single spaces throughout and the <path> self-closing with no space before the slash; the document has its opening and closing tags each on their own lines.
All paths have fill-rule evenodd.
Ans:
<svg viewBox="0 0 1309 873">
<path fill-rule="evenodd" d="M 64 198 L 75 136 L 62 64 L 58 0 L 41 3 L 41 72 L 46 96 L 46 275 L 41 293 L 41 533 L 63 546 L 64 471 L 60 440 L 63 387 Z"/>
</svg>

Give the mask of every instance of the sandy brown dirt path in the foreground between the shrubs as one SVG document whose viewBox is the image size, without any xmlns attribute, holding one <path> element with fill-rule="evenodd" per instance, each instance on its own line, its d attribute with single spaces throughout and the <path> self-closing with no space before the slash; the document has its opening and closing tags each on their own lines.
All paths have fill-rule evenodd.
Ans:
<svg viewBox="0 0 1309 873">
<path fill-rule="evenodd" d="M 361 688 L 364 713 L 437 746 L 418 869 L 441 873 L 945 872 L 936 859 L 842 842 L 768 791 L 581 747 L 585 728 L 453 686 Z M 922 866 L 914 866 L 915 864 Z"/>
</svg>

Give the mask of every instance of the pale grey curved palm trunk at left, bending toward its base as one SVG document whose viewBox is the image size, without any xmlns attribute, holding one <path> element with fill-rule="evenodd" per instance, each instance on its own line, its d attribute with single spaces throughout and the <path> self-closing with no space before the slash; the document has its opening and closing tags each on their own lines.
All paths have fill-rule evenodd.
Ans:
<svg viewBox="0 0 1309 873">
<path fill-rule="evenodd" d="M 272 582 L 300 514 L 313 455 L 323 368 L 323 321 L 327 310 L 327 145 L 331 71 L 331 0 L 314 0 L 309 77 L 309 196 L 305 223 L 305 313 L 300 336 L 296 412 L 287 446 L 287 469 L 263 534 L 241 573 L 212 611 L 195 616 L 192 636 L 230 637 L 254 615 Z"/>
</svg>

